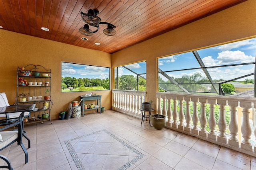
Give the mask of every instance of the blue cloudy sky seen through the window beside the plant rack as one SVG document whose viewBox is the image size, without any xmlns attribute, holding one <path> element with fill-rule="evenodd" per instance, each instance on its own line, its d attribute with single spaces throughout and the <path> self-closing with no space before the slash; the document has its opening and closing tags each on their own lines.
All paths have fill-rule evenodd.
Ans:
<svg viewBox="0 0 256 170">
<path fill-rule="evenodd" d="M 110 76 L 110 68 L 62 62 L 62 77 L 100 78 Z"/>
</svg>

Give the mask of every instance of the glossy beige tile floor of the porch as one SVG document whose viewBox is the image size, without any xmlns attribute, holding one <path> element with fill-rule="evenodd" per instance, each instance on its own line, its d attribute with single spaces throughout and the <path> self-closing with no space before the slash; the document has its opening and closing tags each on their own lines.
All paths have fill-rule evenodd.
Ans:
<svg viewBox="0 0 256 170">
<path fill-rule="evenodd" d="M 108 110 L 26 125 L 28 163 L 16 144 L 1 154 L 15 170 L 256 170 L 253 156 L 140 122 Z"/>
</svg>

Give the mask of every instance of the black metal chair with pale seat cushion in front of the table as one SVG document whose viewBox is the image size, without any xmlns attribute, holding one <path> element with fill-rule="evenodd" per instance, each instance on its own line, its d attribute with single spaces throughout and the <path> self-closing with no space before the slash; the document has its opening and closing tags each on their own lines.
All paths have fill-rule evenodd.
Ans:
<svg viewBox="0 0 256 170">
<path fill-rule="evenodd" d="M 12 114 L 12 113 L 9 113 L 9 114 Z M 0 142 L 0 151 L 12 145 L 13 143 L 17 142 L 18 145 L 21 146 L 22 150 L 25 153 L 25 164 L 26 164 L 28 162 L 28 151 L 26 150 L 26 148 L 24 147 L 24 144 L 22 143 L 22 136 L 24 133 L 23 119 L 24 119 L 24 112 L 21 112 L 19 117 L 1 119 L 0 134 L 2 136 L 3 141 Z M 17 129 L 10 130 L 10 129 L 13 129 L 13 127 L 16 127 Z"/>
</svg>

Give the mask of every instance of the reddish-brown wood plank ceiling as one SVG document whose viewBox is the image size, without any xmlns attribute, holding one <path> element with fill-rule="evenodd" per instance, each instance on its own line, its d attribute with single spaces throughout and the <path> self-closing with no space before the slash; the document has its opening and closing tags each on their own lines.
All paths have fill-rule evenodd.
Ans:
<svg viewBox="0 0 256 170">
<path fill-rule="evenodd" d="M 0 26 L 112 54 L 241 2 L 244 0 L 0 0 Z M 92 36 L 80 34 L 78 29 L 85 24 L 80 12 L 89 9 L 97 9 L 103 22 L 114 24 L 116 35 L 104 35 L 107 25 L 103 24 Z"/>
</svg>

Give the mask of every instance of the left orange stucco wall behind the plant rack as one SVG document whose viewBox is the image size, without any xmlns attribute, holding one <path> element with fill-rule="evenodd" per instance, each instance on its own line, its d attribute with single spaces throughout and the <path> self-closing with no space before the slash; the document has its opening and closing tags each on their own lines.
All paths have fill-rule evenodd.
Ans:
<svg viewBox="0 0 256 170">
<path fill-rule="evenodd" d="M 52 119 L 57 119 L 58 113 L 66 110 L 69 102 L 80 101 L 79 96 L 88 92 L 61 92 L 62 61 L 111 67 L 111 55 L 108 53 L 0 30 L 0 92 L 6 93 L 10 104 L 14 104 L 16 97 L 17 67 L 28 64 L 52 70 Z M 111 91 L 97 91 L 96 94 L 102 95 L 102 106 L 111 109 Z"/>
</svg>

